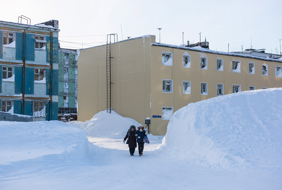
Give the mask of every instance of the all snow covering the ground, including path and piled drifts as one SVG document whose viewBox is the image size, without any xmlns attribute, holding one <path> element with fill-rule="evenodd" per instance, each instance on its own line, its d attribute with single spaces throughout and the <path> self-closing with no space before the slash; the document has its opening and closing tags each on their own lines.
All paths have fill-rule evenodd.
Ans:
<svg viewBox="0 0 282 190">
<path fill-rule="evenodd" d="M 163 140 L 148 135 L 143 156 L 122 142 L 136 121 L 118 114 L 68 122 L 76 127 L 0 122 L 0 189 L 282 189 L 281 97 L 265 89 L 189 104 Z"/>
</svg>

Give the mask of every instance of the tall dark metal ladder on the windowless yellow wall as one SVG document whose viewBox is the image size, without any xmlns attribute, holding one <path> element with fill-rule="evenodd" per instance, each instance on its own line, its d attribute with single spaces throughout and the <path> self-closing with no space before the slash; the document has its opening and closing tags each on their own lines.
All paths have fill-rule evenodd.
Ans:
<svg viewBox="0 0 282 190">
<path fill-rule="evenodd" d="M 107 113 L 111 113 L 111 110 L 113 109 L 111 107 L 111 40 L 114 38 L 114 42 L 116 42 L 116 36 L 117 34 L 108 34 L 107 35 Z"/>
</svg>

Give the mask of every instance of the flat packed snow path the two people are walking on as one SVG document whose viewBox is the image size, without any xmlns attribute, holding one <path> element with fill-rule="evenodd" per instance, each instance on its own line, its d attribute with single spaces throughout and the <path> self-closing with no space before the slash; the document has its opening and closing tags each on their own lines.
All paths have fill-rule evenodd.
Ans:
<svg viewBox="0 0 282 190">
<path fill-rule="evenodd" d="M 88 138 L 85 162 L 32 163 L 0 170 L 0 189 L 281 189 L 281 170 L 211 168 L 174 160 L 145 144 L 130 156 L 123 139 Z M 149 139 L 150 140 L 150 139 Z M 140 186 L 141 184 L 141 186 Z"/>
</svg>

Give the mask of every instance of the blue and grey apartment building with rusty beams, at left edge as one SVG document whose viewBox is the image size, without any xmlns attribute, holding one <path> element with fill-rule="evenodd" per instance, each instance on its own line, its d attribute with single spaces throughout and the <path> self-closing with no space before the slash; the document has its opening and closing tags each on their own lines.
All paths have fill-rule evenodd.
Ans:
<svg viewBox="0 0 282 190">
<path fill-rule="evenodd" d="M 0 21 L 2 112 L 58 119 L 58 21 Z M 0 113 L 1 114 L 1 113 Z"/>
</svg>

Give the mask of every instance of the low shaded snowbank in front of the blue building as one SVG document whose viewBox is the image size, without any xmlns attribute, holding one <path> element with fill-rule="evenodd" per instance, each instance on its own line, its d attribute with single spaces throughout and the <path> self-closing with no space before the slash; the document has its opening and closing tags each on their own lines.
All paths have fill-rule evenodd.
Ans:
<svg viewBox="0 0 282 190">
<path fill-rule="evenodd" d="M 0 121 L 0 166 L 79 161 L 88 151 L 85 131 L 61 121 Z M 33 162 L 34 163 L 34 162 Z"/>
</svg>

